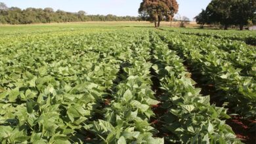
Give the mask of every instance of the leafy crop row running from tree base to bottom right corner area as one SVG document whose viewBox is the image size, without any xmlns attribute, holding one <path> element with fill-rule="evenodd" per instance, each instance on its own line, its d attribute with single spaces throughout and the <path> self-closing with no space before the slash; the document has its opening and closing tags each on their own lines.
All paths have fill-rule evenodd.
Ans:
<svg viewBox="0 0 256 144">
<path fill-rule="evenodd" d="M 152 33 L 154 71 L 160 80 L 162 94 L 158 117 L 161 131 L 171 143 L 240 143 L 232 128 L 225 124 L 226 109 L 210 105 L 209 96 L 200 88 L 182 64 L 181 58 L 160 37 Z"/>
</svg>

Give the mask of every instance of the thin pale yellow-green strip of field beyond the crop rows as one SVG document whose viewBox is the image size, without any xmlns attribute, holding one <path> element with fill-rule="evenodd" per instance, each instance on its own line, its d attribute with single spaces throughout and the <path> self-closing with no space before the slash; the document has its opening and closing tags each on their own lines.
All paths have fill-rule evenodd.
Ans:
<svg viewBox="0 0 256 144">
<path fill-rule="evenodd" d="M 161 28 L 169 29 L 184 29 L 180 28 L 181 22 L 161 22 Z M 198 29 L 200 26 L 196 22 L 189 22 L 185 24 L 186 28 Z M 124 29 L 127 27 L 154 27 L 154 24 L 150 22 L 70 22 L 70 23 L 51 23 L 51 24 L 28 24 L 28 25 L 0 25 L 0 35 L 11 35 L 14 33 L 35 33 L 38 31 L 45 32 L 60 32 L 60 31 L 79 31 L 79 30 L 93 30 L 93 29 Z M 187 31 L 188 29 L 184 29 Z M 219 33 L 221 30 L 216 29 L 202 29 L 203 31 L 209 31 L 210 33 Z M 193 30 L 192 30 L 193 31 Z M 200 29 L 198 29 L 200 31 Z M 203 32 L 202 31 L 202 32 Z M 221 33 L 234 33 L 239 35 L 240 33 L 249 33 L 253 35 L 255 31 L 236 31 L 228 30 Z"/>
</svg>

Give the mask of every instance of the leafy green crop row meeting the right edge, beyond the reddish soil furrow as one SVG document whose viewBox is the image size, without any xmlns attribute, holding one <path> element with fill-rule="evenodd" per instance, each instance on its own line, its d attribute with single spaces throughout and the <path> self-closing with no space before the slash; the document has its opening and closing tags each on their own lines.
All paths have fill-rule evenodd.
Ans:
<svg viewBox="0 0 256 144">
<path fill-rule="evenodd" d="M 188 65 L 192 66 L 195 73 L 200 73 L 204 81 L 213 84 L 217 90 L 223 90 L 224 95 L 219 96 L 220 100 L 226 101 L 228 107 L 245 118 L 255 118 L 256 115 L 256 82 L 253 73 L 255 73 L 255 62 L 251 66 L 248 76 L 241 74 L 241 69 L 234 67 L 229 58 L 221 54 L 223 50 L 214 48 L 214 41 L 199 44 L 197 41 L 190 40 L 190 37 L 184 35 L 173 35 L 172 33 L 161 33 L 164 39 L 173 50 L 176 50 L 184 57 Z M 202 42 L 202 41 L 200 41 Z M 250 51 L 250 50 L 248 50 Z M 239 52 L 239 51 L 238 51 Z M 238 54 L 237 52 L 237 54 Z M 239 56 L 239 54 L 237 55 Z M 251 54 L 253 56 L 253 54 Z M 251 59 L 251 56 L 248 56 Z M 237 58 L 236 60 L 240 60 Z M 241 61 L 240 63 L 243 63 Z M 249 77 L 251 75 L 251 77 Z"/>
</svg>

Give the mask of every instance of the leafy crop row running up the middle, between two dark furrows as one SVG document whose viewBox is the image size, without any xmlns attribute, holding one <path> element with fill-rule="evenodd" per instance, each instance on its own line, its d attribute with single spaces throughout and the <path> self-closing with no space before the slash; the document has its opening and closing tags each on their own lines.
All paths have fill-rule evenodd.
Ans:
<svg viewBox="0 0 256 144">
<path fill-rule="evenodd" d="M 154 117 L 151 106 L 159 101 L 151 88 L 148 33 L 139 34 L 142 36 L 136 43 L 123 48 L 125 59 L 121 64 L 122 72 L 119 73 L 119 83 L 102 110 L 104 118 L 85 126 L 85 129 L 98 135 L 91 143 L 100 138 L 102 143 L 164 143 L 162 138 L 154 137 L 158 131 L 150 123 L 150 118 Z"/>
</svg>

